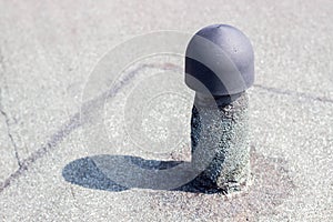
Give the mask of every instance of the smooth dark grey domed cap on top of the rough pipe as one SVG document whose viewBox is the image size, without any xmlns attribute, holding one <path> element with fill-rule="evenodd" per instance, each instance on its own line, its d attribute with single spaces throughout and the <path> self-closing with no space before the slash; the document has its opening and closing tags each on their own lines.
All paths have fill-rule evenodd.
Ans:
<svg viewBox="0 0 333 222">
<path fill-rule="evenodd" d="M 185 83 L 213 95 L 236 94 L 254 82 L 254 53 L 239 29 L 213 24 L 198 31 L 185 53 Z"/>
</svg>

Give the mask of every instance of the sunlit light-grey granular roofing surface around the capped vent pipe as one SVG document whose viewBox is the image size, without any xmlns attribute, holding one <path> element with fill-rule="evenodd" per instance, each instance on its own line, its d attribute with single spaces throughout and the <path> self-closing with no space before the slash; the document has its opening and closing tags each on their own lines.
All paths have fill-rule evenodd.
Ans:
<svg viewBox="0 0 333 222">
<path fill-rule="evenodd" d="M 0 170 L 6 178 L 0 184 L 0 220 L 333 221 L 332 7 L 332 0 L 112 0 L 80 4 L 1 0 L 1 105 L 26 168 L 18 170 L 7 121 L 1 117 L 4 152 Z M 151 117 L 145 129 L 149 137 L 163 138 L 163 124 L 173 119 L 173 138 L 186 140 L 169 153 L 145 153 L 131 143 L 122 112 L 129 92 L 143 80 L 149 89 L 170 88 L 170 81 L 150 82 L 148 73 L 161 72 L 172 63 L 181 70 L 180 78 L 172 81 L 182 83 L 183 57 L 144 61 L 154 68 L 134 67 L 134 77 L 107 101 L 111 141 L 107 150 L 82 134 L 95 125 L 80 122 L 81 93 L 95 63 L 114 46 L 155 30 L 193 34 L 216 22 L 244 31 L 255 53 L 255 84 L 248 91 L 251 145 L 255 148 L 249 192 L 231 199 L 134 188 L 113 192 L 112 184 L 89 162 L 71 171 L 73 182 L 84 185 L 65 181 L 62 172 L 67 165 L 94 154 L 190 161 L 193 94 L 184 100 L 171 95 L 157 99 L 154 104 L 163 110 L 170 109 L 163 101 L 174 101 L 171 113 L 162 115 L 169 119 L 153 110 L 145 112 Z M 159 127 L 158 133 L 150 125 Z M 81 171 L 75 173 L 75 169 Z M 109 190 L 103 189 L 108 184 Z"/>
</svg>

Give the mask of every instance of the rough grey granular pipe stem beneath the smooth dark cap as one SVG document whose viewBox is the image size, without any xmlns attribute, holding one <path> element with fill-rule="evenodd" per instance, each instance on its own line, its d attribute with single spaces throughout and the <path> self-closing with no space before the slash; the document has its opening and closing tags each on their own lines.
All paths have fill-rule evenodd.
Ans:
<svg viewBox="0 0 333 222">
<path fill-rule="evenodd" d="M 215 105 L 194 102 L 192 109 L 192 163 L 204 169 L 194 183 L 208 191 L 241 191 L 250 174 L 248 94 Z"/>
</svg>

